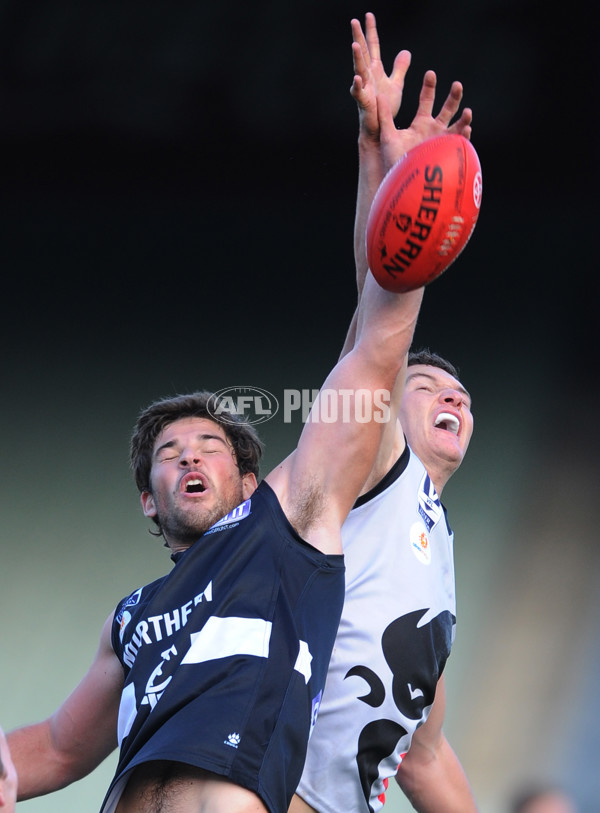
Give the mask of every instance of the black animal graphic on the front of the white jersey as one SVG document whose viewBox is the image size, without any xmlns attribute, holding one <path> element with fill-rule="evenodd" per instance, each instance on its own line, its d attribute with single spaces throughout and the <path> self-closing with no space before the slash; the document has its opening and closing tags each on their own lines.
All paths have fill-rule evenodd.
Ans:
<svg viewBox="0 0 600 813">
<path fill-rule="evenodd" d="M 415 610 L 397 618 L 384 631 L 381 647 L 392 672 L 392 697 L 400 713 L 420 720 L 433 703 L 437 682 L 450 654 L 455 617 L 444 610 L 430 621 L 419 622 L 428 609 Z M 358 676 L 370 691 L 359 697 L 373 708 L 381 706 L 386 696 L 382 679 L 368 666 L 354 666 L 346 677 Z M 407 734 L 393 720 L 375 720 L 366 725 L 358 738 L 356 762 L 360 782 L 368 804 L 371 787 L 379 775 L 379 763 L 393 753 L 399 740 Z M 373 813 L 373 808 L 368 805 Z"/>
</svg>

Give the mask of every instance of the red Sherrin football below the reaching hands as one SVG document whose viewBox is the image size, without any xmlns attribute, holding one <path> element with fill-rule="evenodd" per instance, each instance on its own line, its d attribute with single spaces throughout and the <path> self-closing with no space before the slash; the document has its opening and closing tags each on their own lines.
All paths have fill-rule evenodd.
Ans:
<svg viewBox="0 0 600 813">
<path fill-rule="evenodd" d="M 390 169 L 367 222 L 367 259 L 388 291 L 427 285 L 454 262 L 481 206 L 481 165 L 460 135 L 441 135 L 409 150 Z"/>
</svg>

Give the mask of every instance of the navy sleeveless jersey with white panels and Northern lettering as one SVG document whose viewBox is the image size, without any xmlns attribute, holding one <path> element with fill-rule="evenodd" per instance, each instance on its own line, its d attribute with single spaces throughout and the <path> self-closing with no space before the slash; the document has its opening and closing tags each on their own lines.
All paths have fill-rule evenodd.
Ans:
<svg viewBox="0 0 600 813">
<path fill-rule="evenodd" d="M 120 755 L 102 813 L 150 760 L 204 768 L 285 813 L 344 600 L 343 556 L 304 542 L 267 483 L 117 605 Z"/>
</svg>

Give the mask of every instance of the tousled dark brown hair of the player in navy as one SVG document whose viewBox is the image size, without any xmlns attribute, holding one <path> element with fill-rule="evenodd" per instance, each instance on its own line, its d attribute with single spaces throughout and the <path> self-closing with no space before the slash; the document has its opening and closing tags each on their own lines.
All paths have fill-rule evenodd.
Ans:
<svg viewBox="0 0 600 813">
<path fill-rule="evenodd" d="M 258 479 L 263 446 L 255 428 L 226 409 L 212 392 L 194 392 L 161 398 L 146 407 L 136 421 L 131 436 L 130 462 L 140 491 L 150 491 L 150 470 L 154 442 L 162 430 L 182 418 L 207 418 L 218 424 L 231 443 L 240 474 L 252 473 Z"/>
</svg>

